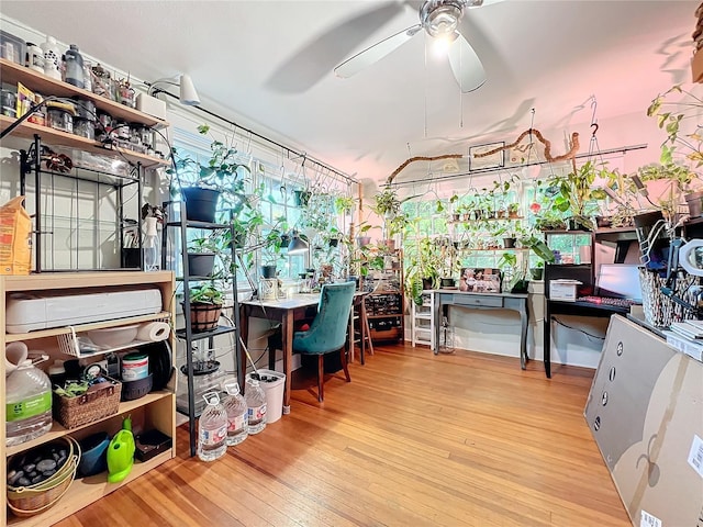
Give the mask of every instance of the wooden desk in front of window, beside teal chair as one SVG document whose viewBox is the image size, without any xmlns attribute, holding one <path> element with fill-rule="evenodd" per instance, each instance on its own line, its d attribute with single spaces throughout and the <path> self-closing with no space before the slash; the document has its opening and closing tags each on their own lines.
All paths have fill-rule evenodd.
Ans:
<svg viewBox="0 0 703 527">
<path fill-rule="evenodd" d="M 239 333 L 242 341 L 249 348 L 249 317 L 267 318 L 281 323 L 281 340 L 283 350 L 283 373 L 286 388 L 283 391 L 283 413 L 290 413 L 290 375 L 293 356 L 293 322 L 305 316 L 309 307 L 316 306 L 320 293 L 297 294 L 291 299 L 247 300 L 239 302 Z M 241 354 L 239 368 L 246 371 L 246 354 Z"/>
</svg>

